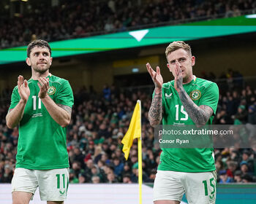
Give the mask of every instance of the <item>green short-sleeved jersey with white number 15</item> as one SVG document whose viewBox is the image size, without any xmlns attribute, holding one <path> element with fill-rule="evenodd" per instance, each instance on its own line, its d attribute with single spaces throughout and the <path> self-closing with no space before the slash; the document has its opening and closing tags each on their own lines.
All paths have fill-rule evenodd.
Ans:
<svg viewBox="0 0 256 204">
<path fill-rule="evenodd" d="M 183 87 L 197 106 L 210 106 L 214 114 L 216 113 L 217 103 L 219 101 L 219 88 L 216 83 L 194 76 L 192 82 L 183 85 Z M 181 103 L 179 95 L 174 88 L 174 81 L 167 82 L 162 86 L 162 106 L 165 109 L 162 115 L 162 125 L 195 124 Z M 206 124 L 211 124 L 213 118 L 214 116 L 211 116 Z M 213 149 L 162 149 L 158 169 L 181 172 L 206 172 L 215 170 Z"/>
</svg>

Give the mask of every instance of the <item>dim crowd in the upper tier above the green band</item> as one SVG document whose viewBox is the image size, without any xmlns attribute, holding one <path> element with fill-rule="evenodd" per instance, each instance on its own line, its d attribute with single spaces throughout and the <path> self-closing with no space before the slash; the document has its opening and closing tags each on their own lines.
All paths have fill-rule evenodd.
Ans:
<svg viewBox="0 0 256 204">
<path fill-rule="evenodd" d="M 255 9 L 253 0 L 63 0 L 54 7 L 44 1 L 29 4 L 18 16 L 1 15 L 0 48 L 25 45 L 35 38 L 53 42 L 182 20 L 234 17 Z"/>
</svg>

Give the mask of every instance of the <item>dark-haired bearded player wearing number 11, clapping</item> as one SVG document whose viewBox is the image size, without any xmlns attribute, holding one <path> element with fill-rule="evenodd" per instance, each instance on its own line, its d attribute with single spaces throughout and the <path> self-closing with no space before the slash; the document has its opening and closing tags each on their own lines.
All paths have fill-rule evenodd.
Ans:
<svg viewBox="0 0 256 204">
<path fill-rule="evenodd" d="M 16 168 L 12 178 L 12 202 L 27 204 L 39 187 L 41 200 L 64 203 L 69 181 L 66 127 L 74 103 L 66 79 L 49 72 L 51 49 L 36 40 L 27 48 L 31 79 L 18 76 L 6 120 L 19 125 Z"/>
</svg>

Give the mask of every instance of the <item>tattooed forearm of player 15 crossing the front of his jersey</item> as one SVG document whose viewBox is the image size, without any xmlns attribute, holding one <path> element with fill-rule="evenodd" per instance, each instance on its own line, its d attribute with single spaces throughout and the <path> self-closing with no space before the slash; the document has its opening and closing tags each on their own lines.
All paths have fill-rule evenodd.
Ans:
<svg viewBox="0 0 256 204">
<path fill-rule="evenodd" d="M 197 106 L 192 99 L 189 98 L 189 95 L 184 89 L 181 89 L 178 95 L 181 98 L 181 103 L 192 121 L 195 122 L 196 125 L 205 125 L 213 114 L 211 107 L 204 105 Z"/>
</svg>

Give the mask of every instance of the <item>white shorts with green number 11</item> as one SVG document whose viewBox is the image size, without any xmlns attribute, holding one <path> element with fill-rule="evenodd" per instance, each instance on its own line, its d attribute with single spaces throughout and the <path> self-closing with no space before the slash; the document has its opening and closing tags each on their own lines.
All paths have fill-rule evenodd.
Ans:
<svg viewBox="0 0 256 204">
<path fill-rule="evenodd" d="M 69 168 L 50 170 L 16 168 L 12 178 L 12 192 L 30 192 L 34 195 L 39 187 L 40 198 L 46 201 L 65 200 L 68 185 Z"/>
</svg>

